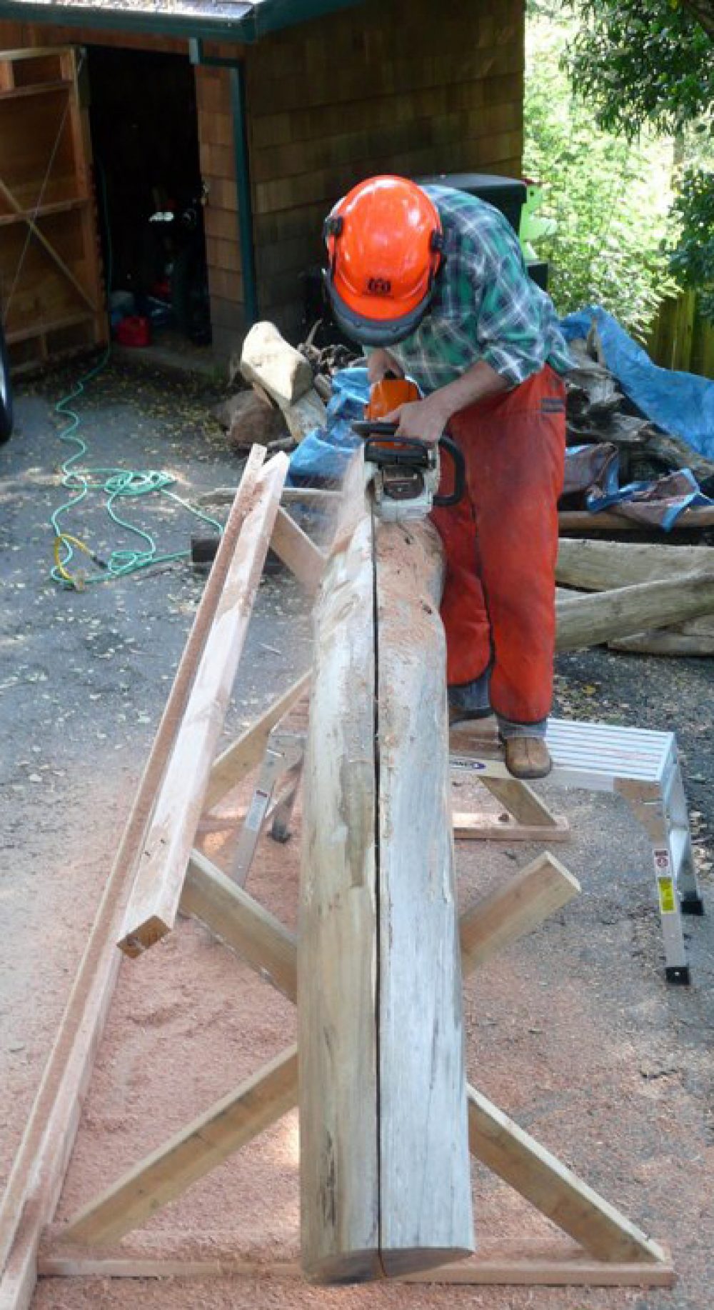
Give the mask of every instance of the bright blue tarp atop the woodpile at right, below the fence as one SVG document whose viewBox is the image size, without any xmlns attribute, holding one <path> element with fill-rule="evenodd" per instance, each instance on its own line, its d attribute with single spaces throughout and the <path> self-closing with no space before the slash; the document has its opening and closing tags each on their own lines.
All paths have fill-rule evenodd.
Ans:
<svg viewBox="0 0 714 1310">
<path fill-rule="evenodd" d="M 573 341 L 587 337 L 593 322 L 605 364 L 633 403 L 658 427 L 714 460 L 714 383 L 652 364 L 642 346 L 599 305 L 567 314 L 561 328 Z"/>
</svg>

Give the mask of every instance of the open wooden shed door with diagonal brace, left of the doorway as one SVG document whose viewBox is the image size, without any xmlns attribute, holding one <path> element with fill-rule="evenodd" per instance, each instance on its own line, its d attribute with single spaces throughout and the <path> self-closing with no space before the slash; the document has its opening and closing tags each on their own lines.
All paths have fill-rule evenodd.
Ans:
<svg viewBox="0 0 714 1310">
<path fill-rule="evenodd" d="M 13 372 L 103 343 L 89 123 L 72 48 L 0 54 L 0 231 Z"/>
</svg>

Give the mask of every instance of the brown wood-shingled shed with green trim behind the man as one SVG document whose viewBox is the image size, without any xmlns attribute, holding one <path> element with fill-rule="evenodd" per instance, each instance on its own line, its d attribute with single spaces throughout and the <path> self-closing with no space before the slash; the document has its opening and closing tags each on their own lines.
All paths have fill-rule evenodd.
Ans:
<svg viewBox="0 0 714 1310">
<path fill-rule="evenodd" d="M 52 64 L 56 47 L 66 55 Z M 9 316 L 5 308 L 16 363 L 51 355 L 67 325 L 84 324 L 88 341 L 106 333 L 92 107 L 77 77 L 101 50 L 118 60 L 111 80 L 127 114 L 140 93 L 139 54 L 173 56 L 172 76 L 182 88 L 190 79 L 217 359 L 257 317 L 299 335 L 322 219 L 362 177 L 520 176 L 523 0 L 0 0 L 5 305 L 22 283 L 16 265 L 25 245 L 35 272 L 46 274 Z M 45 54 L 20 59 L 18 51 Z M 152 114 L 161 118 L 160 109 Z M 168 107 L 162 132 L 170 141 Z M 185 152 L 179 141 L 174 159 Z"/>
</svg>

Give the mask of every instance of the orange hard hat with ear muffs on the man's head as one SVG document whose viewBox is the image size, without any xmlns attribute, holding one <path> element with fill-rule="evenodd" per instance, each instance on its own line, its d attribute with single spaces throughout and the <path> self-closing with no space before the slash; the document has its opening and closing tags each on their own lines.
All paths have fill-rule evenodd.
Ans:
<svg viewBox="0 0 714 1310">
<path fill-rule="evenodd" d="M 325 220 L 325 286 L 338 326 L 363 346 L 409 337 L 444 259 L 439 211 L 405 177 L 354 186 Z"/>
</svg>

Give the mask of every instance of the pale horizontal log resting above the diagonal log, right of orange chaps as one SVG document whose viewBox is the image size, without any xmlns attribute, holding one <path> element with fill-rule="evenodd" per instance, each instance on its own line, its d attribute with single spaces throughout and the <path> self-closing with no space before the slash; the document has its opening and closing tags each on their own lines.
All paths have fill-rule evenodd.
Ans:
<svg viewBox="0 0 714 1310">
<path fill-rule="evenodd" d="M 638 545 L 562 537 L 555 580 L 583 591 L 611 591 L 698 569 L 714 571 L 713 546 Z"/>
</svg>

